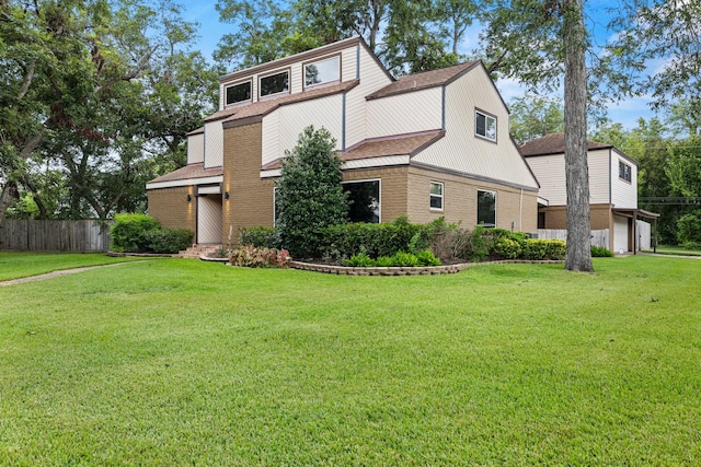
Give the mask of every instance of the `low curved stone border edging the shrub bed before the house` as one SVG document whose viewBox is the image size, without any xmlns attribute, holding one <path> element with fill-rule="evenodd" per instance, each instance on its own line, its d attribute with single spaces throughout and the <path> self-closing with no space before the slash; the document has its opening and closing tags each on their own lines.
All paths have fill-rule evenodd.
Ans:
<svg viewBox="0 0 701 467">
<path fill-rule="evenodd" d="M 464 269 L 478 265 L 508 265 L 508 264 L 533 264 L 533 265 L 562 265 L 564 260 L 542 260 L 532 261 L 524 259 L 505 259 L 501 261 L 484 262 L 460 262 L 457 265 L 445 266 L 423 266 L 423 267 L 372 267 L 356 268 L 349 266 L 332 266 L 320 265 L 315 262 L 290 261 L 289 267 L 292 269 L 301 269 L 304 271 L 324 272 L 327 275 L 340 276 L 435 276 L 435 275 L 455 275 Z"/>
</svg>

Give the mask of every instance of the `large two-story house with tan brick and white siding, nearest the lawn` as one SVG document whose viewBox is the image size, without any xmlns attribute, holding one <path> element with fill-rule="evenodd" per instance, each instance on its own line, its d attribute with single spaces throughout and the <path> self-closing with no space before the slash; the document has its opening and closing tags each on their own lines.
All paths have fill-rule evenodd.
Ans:
<svg viewBox="0 0 701 467">
<path fill-rule="evenodd" d="M 537 230 L 538 182 L 482 62 L 394 79 L 360 38 L 222 77 L 187 165 L 147 184 L 149 212 L 200 244 L 274 225 L 279 160 L 309 125 L 336 139 L 353 221 Z"/>
</svg>

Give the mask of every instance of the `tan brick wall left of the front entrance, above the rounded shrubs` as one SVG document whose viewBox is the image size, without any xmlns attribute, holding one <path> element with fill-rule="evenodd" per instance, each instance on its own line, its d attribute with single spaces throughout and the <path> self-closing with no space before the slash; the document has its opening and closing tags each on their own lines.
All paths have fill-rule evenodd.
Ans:
<svg viewBox="0 0 701 467">
<path fill-rule="evenodd" d="M 191 201 L 187 202 L 187 195 Z M 189 229 L 195 232 L 197 202 L 195 188 L 176 187 L 148 190 L 149 214 L 158 219 L 164 229 Z"/>
</svg>

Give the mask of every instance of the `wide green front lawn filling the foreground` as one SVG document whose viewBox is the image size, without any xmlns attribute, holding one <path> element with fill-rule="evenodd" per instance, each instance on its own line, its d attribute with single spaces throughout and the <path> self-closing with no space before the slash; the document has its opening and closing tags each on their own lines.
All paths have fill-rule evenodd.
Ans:
<svg viewBox="0 0 701 467">
<path fill-rule="evenodd" d="M 0 289 L 0 465 L 698 465 L 701 262 Z"/>
</svg>

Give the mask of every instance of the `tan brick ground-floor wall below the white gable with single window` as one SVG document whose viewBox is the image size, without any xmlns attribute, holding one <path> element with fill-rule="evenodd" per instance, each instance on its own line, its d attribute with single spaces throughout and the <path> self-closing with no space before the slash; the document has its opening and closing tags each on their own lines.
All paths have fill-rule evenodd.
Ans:
<svg viewBox="0 0 701 467">
<path fill-rule="evenodd" d="M 444 209 L 430 209 L 430 182 L 444 184 Z M 409 172 L 407 213 L 412 222 L 427 223 L 440 217 L 448 222 L 476 225 L 478 190 L 496 191 L 496 226 L 522 232 L 538 230 L 538 194 L 495 183 L 480 182 L 426 168 Z"/>
</svg>

